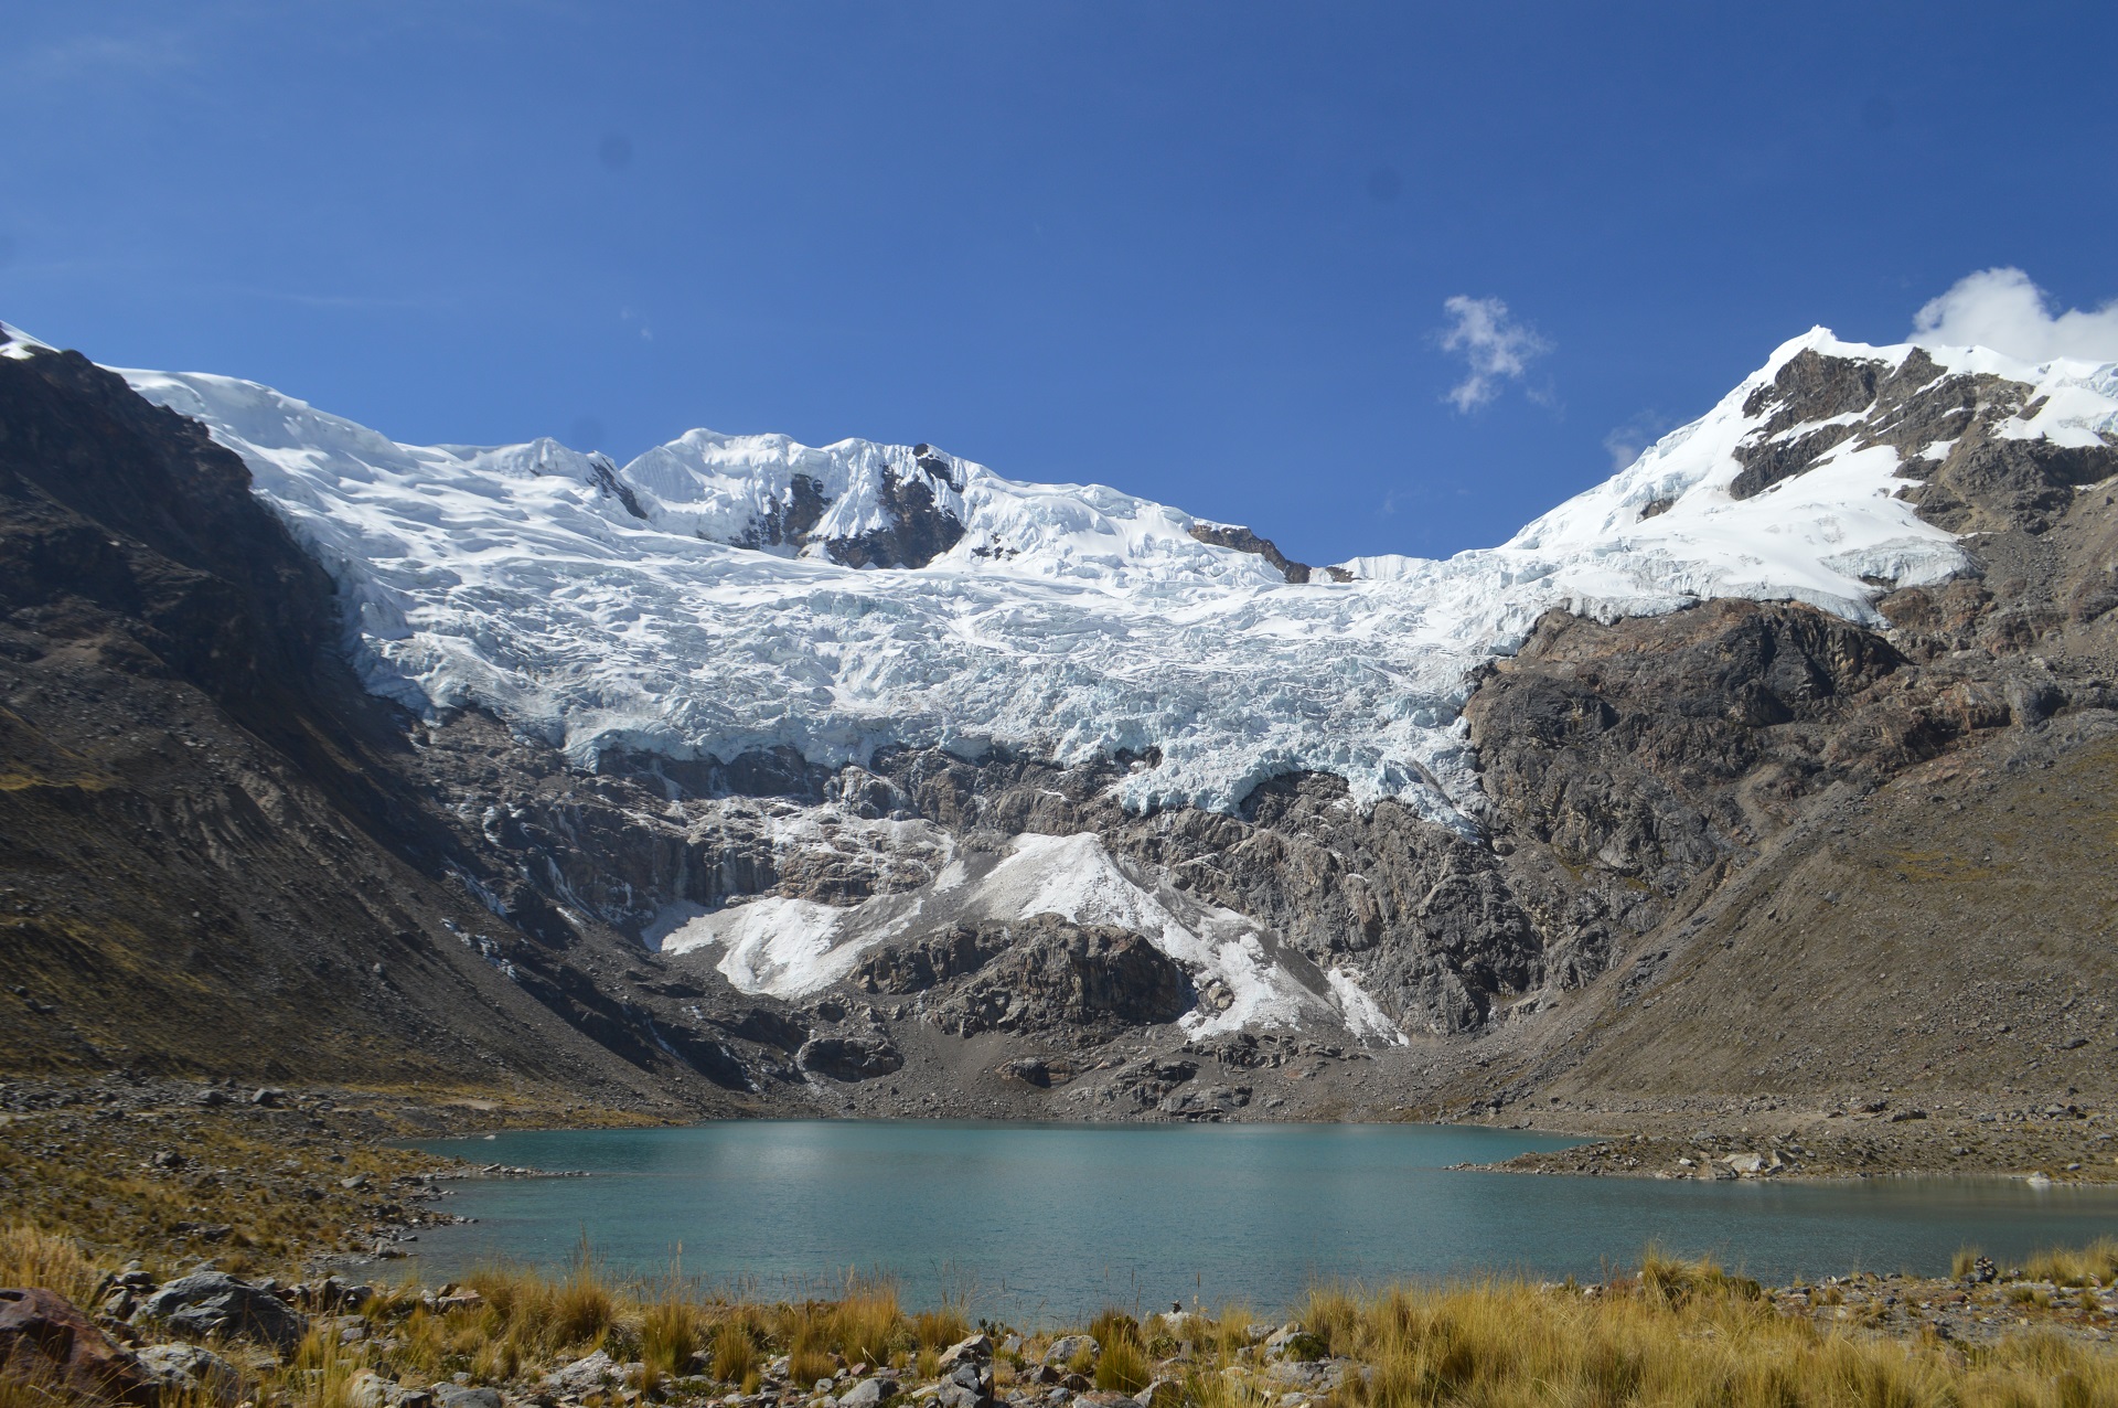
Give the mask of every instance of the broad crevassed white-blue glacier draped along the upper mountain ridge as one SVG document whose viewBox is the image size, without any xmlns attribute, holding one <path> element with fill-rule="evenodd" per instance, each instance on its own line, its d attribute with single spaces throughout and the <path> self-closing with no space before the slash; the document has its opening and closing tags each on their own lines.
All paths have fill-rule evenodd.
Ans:
<svg viewBox="0 0 2118 1408">
<path fill-rule="evenodd" d="M 822 531 L 885 525 L 879 474 L 909 468 L 909 447 L 697 430 L 612 476 L 555 440 L 396 445 L 250 381 L 123 375 L 250 464 L 339 580 L 366 684 L 415 709 L 481 703 L 585 766 L 612 747 L 792 745 L 820 764 L 890 743 L 1059 762 L 1154 747 L 1161 764 L 1118 783 L 1129 807 L 1228 811 L 1277 773 L 1315 769 L 1364 805 L 1402 798 L 1468 830 L 1480 809 L 1468 680 L 1548 608 L 1610 620 L 1756 597 L 1874 620 L 1879 589 L 1862 578 L 1925 584 L 1966 567 L 1949 534 L 1893 498 L 1891 449 L 1847 449 L 1773 493 L 1728 498 L 1730 451 L 1754 428 L 1743 400 L 1805 347 L 1910 351 L 1811 330 L 1506 544 L 1362 557 L 1345 563 L 1353 582 L 1300 586 L 1197 542 L 1197 519 L 1165 504 L 957 459 L 936 500 L 966 534 L 928 567 L 722 542 L 784 502 L 794 474 L 832 498 Z M 2038 385 L 2038 419 L 2010 434 L 2086 443 L 2118 428 L 2112 366 L 1929 354 Z M 1673 504 L 1641 519 L 1658 500 Z"/>
</svg>

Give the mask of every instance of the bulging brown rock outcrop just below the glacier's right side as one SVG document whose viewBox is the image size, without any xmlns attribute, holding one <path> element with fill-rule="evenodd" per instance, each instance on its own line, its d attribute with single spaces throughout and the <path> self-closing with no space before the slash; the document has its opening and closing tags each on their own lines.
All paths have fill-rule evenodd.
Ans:
<svg viewBox="0 0 2118 1408">
<path fill-rule="evenodd" d="M 1711 601 L 1610 627 L 1552 612 L 1468 709 L 1508 836 L 1677 893 L 1832 781 L 1932 754 L 1910 716 L 1849 716 L 1902 658 L 1809 608 Z"/>
</svg>

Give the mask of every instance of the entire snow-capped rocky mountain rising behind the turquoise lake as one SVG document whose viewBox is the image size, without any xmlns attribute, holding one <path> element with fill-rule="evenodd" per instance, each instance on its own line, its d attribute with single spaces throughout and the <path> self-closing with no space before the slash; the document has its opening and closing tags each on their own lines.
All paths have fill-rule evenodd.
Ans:
<svg viewBox="0 0 2118 1408">
<path fill-rule="evenodd" d="M 11 832 L 91 858 L 19 887 L 108 913 L 108 963 L 184 955 L 140 1012 L 227 955 L 252 1006 L 313 974 L 337 1052 L 1379 1116 L 1591 1048 L 1815 1086 L 1815 1042 L 1898 1050 L 1927 991 L 1879 997 L 1877 953 L 1961 957 L 1936 993 L 2025 972 L 2021 934 L 2107 961 L 2107 364 L 1817 330 L 1506 544 L 1322 570 L 926 445 L 616 466 L 127 377 L 0 341 L 0 684 Z M 2023 838 L 2071 883 L 1989 885 Z M 1527 1065 L 1474 1073 L 1487 1040 Z"/>
</svg>

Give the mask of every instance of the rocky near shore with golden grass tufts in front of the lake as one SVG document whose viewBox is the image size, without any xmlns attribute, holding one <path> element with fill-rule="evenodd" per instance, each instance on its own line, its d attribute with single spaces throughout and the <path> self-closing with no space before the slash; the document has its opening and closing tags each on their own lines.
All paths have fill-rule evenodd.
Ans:
<svg viewBox="0 0 2118 1408">
<path fill-rule="evenodd" d="M 1106 1311 L 1087 1328 L 976 1332 L 900 1313 L 887 1285 L 832 1304 L 631 1294 L 578 1264 L 462 1285 L 282 1285 L 142 1262 L 93 1268 L 17 1228 L 0 1289 L 0 1389 L 97 1404 L 333 1408 L 1273 1408 L 1411 1402 L 2118 1402 L 2118 1245 L 1957 1279 L 1764 1289 L 1644 1258 L 1605 1285 L 1313 1292 L 1286 1323 L 1243 1311 Z M 951 1338 L 955 1336 L 955 1338 Z M 945 1342 L 947 1340 L 947 1342 Z"/>
</svg>

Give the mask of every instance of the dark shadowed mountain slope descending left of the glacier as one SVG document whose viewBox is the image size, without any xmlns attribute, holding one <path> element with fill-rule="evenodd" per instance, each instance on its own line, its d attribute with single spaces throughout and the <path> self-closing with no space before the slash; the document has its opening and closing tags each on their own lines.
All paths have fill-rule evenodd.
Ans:
<svg viewBox="0 0 2118 1408">
<path fill-rule="evenodd" d="M 8 1065 L 729 1105 L 576 968 L 625 940 L 483 902 L 508 877 L 405 783 L 409 720 L 241 462 L 76 354 L 0 351 Z"/>
</svg>

